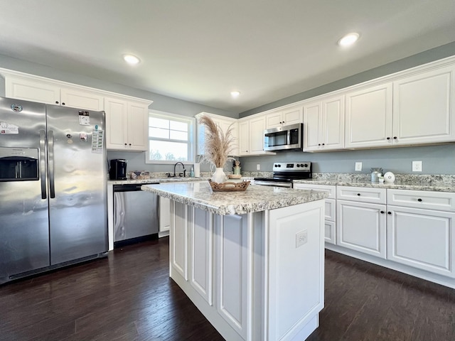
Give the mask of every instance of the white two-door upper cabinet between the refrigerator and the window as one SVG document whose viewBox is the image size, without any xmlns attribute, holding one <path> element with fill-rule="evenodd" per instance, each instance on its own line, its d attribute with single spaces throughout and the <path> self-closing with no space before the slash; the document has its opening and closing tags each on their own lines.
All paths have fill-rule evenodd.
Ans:
<svg viewBox="0 0 455 341">
<path fill-rule="evenodd" d="M 149 135 L 147 102 L 105 97 L 106 148 L 117 151 L 146 151 Z"/>
</svg>

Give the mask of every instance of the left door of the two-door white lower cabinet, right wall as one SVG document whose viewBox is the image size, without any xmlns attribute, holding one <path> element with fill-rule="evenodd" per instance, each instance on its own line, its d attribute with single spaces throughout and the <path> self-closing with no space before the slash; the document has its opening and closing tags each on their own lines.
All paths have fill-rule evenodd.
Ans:
<svg viewBox="0 0 455 341">
<path fill-rule="evenodd" d="M 336 202 L 336 244 L 385 259 L 385 205 Z"/>
</svg>

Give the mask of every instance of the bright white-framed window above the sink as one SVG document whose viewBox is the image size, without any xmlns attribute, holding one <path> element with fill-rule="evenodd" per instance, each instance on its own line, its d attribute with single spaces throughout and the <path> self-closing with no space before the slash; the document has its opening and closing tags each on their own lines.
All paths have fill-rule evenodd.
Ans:
<svg viewBox="0 0 455 341">
<path fill-rule="evenodd" d="M 146 163 L 194 162 L 195 119 L 166 112 L 149 112 Z"/>
</svg>

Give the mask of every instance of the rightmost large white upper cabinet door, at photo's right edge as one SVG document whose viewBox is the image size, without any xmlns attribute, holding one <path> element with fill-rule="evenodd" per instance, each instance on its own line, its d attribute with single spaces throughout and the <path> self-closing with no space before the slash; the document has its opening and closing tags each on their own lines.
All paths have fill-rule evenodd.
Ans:
<svg viewBox="0 0 455 341">
<path fill-rule="evenodd" d="M 444 67 L 393 83 L 394 144 L 455 140 L 454 70 Z"/>
</svg>

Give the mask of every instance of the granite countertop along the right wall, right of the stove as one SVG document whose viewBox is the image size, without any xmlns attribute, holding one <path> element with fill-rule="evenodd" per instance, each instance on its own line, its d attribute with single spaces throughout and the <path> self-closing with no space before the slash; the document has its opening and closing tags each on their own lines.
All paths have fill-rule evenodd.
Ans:
<svg viewBox="0 0 455 341">
<path fill-rule="evenodd" d="M 394 183 L 372 183 L 361 177 L 351 176 L 325 176 L 309 180 L 294 180 L 294 183 L 312 185 L 337 185 L 370 188 L 388 188 L 394 190 L 433 190 L 436 192 L 455 192 L 455 181 L 451 176 L 422 176 L 412 177 L 407 175 L 396 175 Z"/>
</svg>

